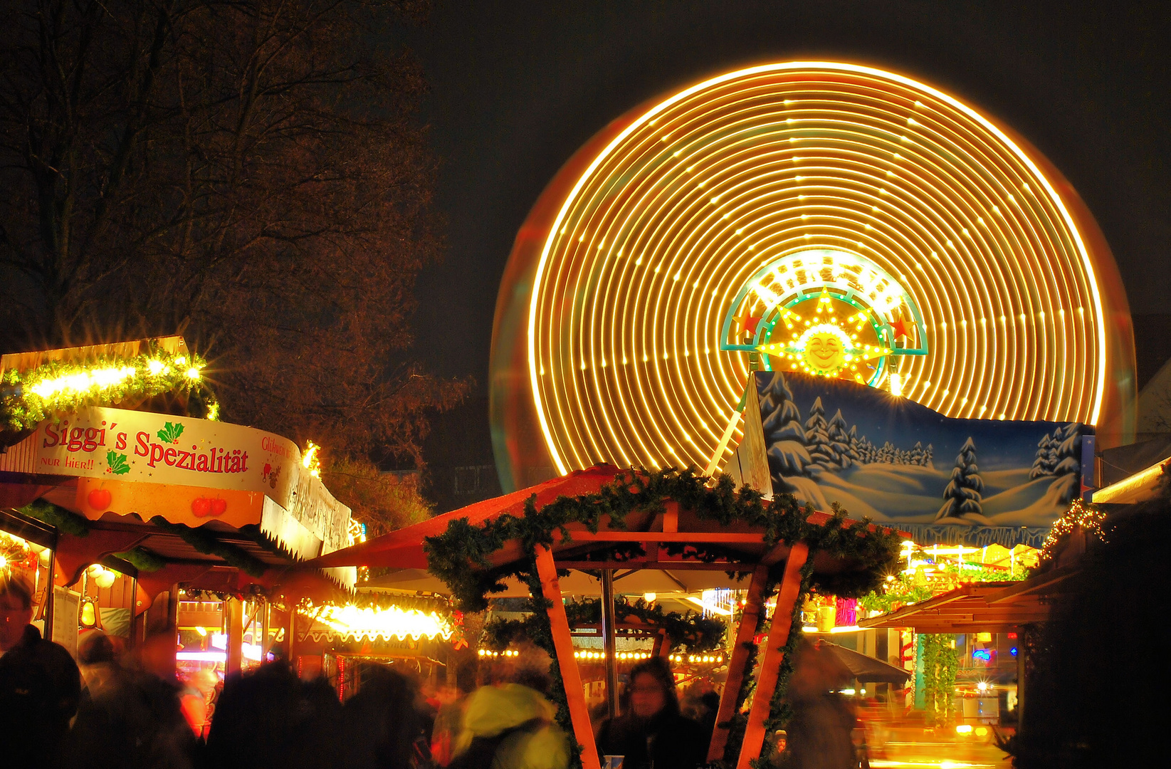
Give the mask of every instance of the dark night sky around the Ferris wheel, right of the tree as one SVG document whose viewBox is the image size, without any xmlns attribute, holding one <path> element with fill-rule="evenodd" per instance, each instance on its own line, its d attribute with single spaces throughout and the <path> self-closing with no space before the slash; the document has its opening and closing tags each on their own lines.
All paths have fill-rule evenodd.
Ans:
<svg viewBox="0 0 1171 769">
<path fill-rule="evenodd" d="M 626 110 L 747 64 L 884 67 L 1007 123 L 1086 200 L 1131 311 L 1171 313 L 1169 33 L 1167 2 L 438 1 L 409 33 L 431 88 L 422 117 L 443 162 L 448 243 L 419 281 L 417 344 L 431 370 L 472 376 L 479 392 L 439 423 L 447 448 L 431 461 L 491 462 L 497 288 L 557 169 Z M 1136 329 L 1141 355 L 1151 328 Z"/>
</svg>

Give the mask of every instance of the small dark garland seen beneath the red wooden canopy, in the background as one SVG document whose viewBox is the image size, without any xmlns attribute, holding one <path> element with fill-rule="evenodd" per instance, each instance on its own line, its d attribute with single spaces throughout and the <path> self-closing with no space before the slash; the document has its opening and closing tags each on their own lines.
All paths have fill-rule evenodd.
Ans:
<svg viewBox="0 0 1171 769">
<path fill-rule="evenodd" d="M 635 617 L 656 631 L 665 630 L 671 647 L 683 647 L 689 653 L 710 652 L 724 645 L 726 625 L 719 619 L 693 611 L 683 614 L 663 611 L 662 606 L 638 598 L 635 603 L 616 600 L 614 616 L 619 623 Z M 570 627 L 596 625 L 602 622 L 602 602 L 598 598 L 570 600 L 566 604 L 566 617 Z M 484 625 L 480 645 L 492 651 L 504 651 L 518 638 L 527 638 L 533 625 L 540 622 L 542 620 L 536 614 L 529 614 L 525 619 L 497 617 Z M 548 622 L 548 617 L 543 622 Z"/>
</svg>

